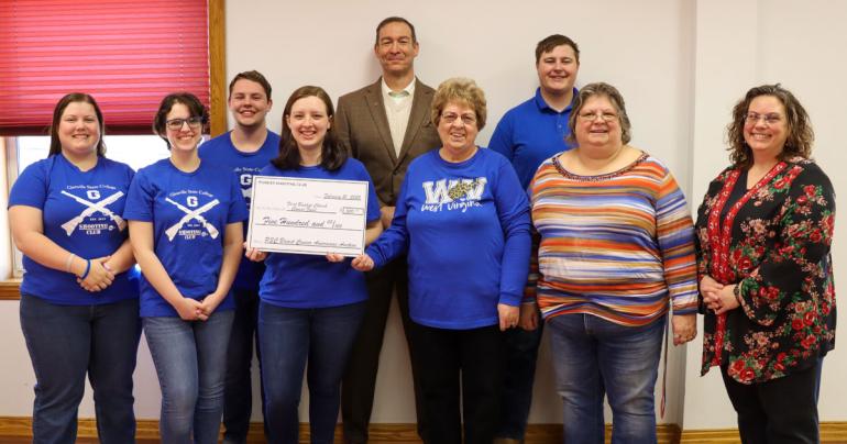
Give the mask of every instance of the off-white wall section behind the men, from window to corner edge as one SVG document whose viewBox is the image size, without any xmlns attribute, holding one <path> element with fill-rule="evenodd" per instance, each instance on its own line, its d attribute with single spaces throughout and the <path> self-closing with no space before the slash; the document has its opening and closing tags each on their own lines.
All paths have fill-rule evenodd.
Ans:
<svg viewBox="0 0 847 444">
<path fill-rule="evenodd" d="M 485 90 L 488 124 L 477 138 L 482 145 L 487 145 L 503 113 L 535 92 L 536 43 L 553 33 L 573 37 L 582 51 L 578 84 L 616 85 L 627 100 L 634 144 L 664 159 L 689 190 L 693 5 L 684 1 L 527 1 L 520 8 L 479 0 L 229 2 L 228 77 L 248 69 L 268 77 L 275 101 L 268 120 L 278 131 L 282 110 L 295 88 L 318 85 L 338 98 L 376 80 L 374 27 L 388 15 L 402 15 L 415 24 L 420 42 L 416 71 L 424 82 L 437 87 L 448 77 L 463 76 Z M 644 51 L 619 51 L 624 40 Z M 411 422 L 406 348 L 396 318 L 391 325 L 373 420 Z M 561 421 L 547 353 L 544 346 L 532 422 Z M 679 352 L 669 359 L 672 374 L 662 422 L 681 421 L 682 390 L 676 387 L 682 384 L 683 357 Z"/>
</svg>

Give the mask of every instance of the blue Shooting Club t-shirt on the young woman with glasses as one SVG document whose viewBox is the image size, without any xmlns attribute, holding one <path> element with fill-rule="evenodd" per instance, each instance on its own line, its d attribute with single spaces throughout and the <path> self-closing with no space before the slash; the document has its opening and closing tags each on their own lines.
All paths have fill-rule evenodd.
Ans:
<svg viewBox="0 0 847 444">
<path fill-rule="evenodd" d="M 184 297 L 199 300 L 218 287 L 227 224 L 246 220 L 248 210 L 232 171 L 200 162 L 185 173 L 166 158 L 135 175 L 123 217 L 153 223 L 153 249 L 165 271 Z M 218 310 L 233 307 L 230 292 Z M 143 275 L 141 315 L 178 315 Z"/>
</svg>

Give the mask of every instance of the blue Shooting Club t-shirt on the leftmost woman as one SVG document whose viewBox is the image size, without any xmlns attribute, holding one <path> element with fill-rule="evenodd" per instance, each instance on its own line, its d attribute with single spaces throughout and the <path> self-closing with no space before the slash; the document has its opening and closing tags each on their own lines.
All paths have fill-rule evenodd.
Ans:
<svg viewBox="0 0 847 444">
<path fill-rule="evenodd" d="M 129 235 L 121 217 L 133 171 L 125 164 L 97 158 L 81 171 L 58 154 L 23 170 L 9 193 L 9 207 L 26 206 L 42 211 L 44 235 L 84 259 L 109 256 Z M 76 276 L 47 268 L 23 256 L 21 293 L 62 306 L 91 306 L 138 298 L 136 273 L 121 273 L 102 291 L 90 292 Z"/>
</svg>

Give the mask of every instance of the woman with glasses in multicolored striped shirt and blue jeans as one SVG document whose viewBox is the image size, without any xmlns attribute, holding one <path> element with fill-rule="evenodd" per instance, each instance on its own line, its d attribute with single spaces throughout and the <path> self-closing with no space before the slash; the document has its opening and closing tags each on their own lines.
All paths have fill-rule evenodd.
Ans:
<svg viewBox="0 0 847 444">
<path fill-rule="evenodd" d="M 575 147 L 530 185 L 541 235 L 537 300 L 551 332 L 564 441 L 656 442 L 653 387 L 669 307 L 673 342 L 696 335 L 691 215 L 668 168 L 629 146 L 615 87 L 591 84 L 569 121 Z"/>
</svg>

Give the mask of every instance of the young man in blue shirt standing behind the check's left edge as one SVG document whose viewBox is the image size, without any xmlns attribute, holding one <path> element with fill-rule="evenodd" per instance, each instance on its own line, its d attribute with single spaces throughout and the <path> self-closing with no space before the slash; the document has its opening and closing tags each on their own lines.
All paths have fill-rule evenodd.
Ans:
<svg viewBox="0 0 847 444">
<path fill-rule="evenodd" d="M 265 120 L 273 106 L 271 84 L 258 71 L 239 73 L 230 82 L 227 104 L 235 126 L 200 145 L 200 158 L 232 169 L 250 208 L 253 176 L 279 153 L 279 135 L 267 129 Z M 244 230 L 246 235 L 246 224 Z M 244 443 L 248 439 L 253 404 L 250 366 L 258 310 L 258 281 L 264 270 L 262 263 L 241 260 L 232 284 L 235 320 L 227 348 L 223 386 L 223 442 L 227 444 Z M 258 353 L 257 348 L 256 345 Z"/>
</svg>

